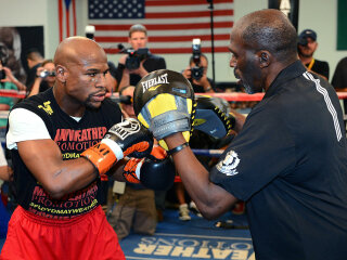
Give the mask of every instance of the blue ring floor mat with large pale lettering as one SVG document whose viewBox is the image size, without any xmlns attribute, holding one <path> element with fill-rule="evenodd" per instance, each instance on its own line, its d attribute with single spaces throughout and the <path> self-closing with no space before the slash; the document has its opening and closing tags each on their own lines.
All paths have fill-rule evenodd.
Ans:
<svg viewBox="0 0 347 260">
<path fill-rule="evenodd" d="M 217 227 L 221 222 L 226 229 Z M 253 244 L 244 214 L 224 214 L 208 221 L 192 216 L 180 221 L 178 210 L 167 209 L 153 236 L 130 234 L 120 242 L 127 259 L 235 259 L 254 260 Z"/>
</svg>

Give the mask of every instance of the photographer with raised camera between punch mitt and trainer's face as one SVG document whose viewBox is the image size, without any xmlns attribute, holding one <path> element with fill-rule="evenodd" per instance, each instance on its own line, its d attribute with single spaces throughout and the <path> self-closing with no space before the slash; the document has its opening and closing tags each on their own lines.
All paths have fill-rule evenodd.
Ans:
<svg viewBox="0 0 347 260">
<path fill-rule="evenodd" d="M 182 75 L 191 82 L 195 93 L 211 93 L 214 91 L 215 83 L 213 79 L 207 78 L 208 61 L 204 54 L 200 55 L 200 61 L 196 65 L 194 62 L 194 55 L 191 56 L 187 67 Z"/>
</svg>

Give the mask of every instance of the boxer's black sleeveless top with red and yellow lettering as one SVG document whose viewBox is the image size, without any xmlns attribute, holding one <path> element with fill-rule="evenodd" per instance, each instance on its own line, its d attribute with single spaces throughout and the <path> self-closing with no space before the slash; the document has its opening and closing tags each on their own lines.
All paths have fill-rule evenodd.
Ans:
<svg viewBox="0 0 347 260">
<path fill-rule="evenodd" d="M 42 118 L 64 160 L 79 158 L 86 148 L 101 141 L 107 129 L 121 120 L 118 105 L 105 99 L 99 109 L 86 109 L 83 117 L 76 121 L 60 108 L 52 88 L 16 104 L 13 109 L 16 108 L 26 108 Z M 11 155 L 18 205 L 26 210 L 47 218 L 69 219 L 99 205 L 100 180 L 62 199 L 53 199 L 24 165 L 17 150 L 13 148 Z"/>
</svg>

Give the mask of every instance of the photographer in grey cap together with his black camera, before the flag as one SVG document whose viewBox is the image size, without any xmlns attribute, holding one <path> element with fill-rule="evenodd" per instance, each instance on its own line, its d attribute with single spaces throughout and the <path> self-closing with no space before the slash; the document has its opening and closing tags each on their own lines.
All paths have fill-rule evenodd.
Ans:
<svg viewBox="0 0 347 260">
<path fill-rule="evenodd" d="M 118 72 L 121 75 L 118 91 L 129 84 L 136 86 L 147 73 L 166 68 L 164 57 L 153 55 L 147 49 L 147 30 L 143 25 L 130 27 L 128 42 L 132 50 L 123 50 L 127 53 L 119 58 Z"/>
</svg>

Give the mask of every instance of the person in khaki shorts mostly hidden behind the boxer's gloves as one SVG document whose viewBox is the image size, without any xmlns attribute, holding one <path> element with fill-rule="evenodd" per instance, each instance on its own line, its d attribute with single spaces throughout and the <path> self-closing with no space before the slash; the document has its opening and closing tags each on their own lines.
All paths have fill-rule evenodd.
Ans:
<svg viewBox="0 0 347 260">
<path fill-rule="evenodd" d="M 133 90 L 133 86 L 127 86 L 119 91 L 120 107 L 125 117 L 136 118 L 132 106 Z M 116 182 L 115 185 L 126 185 L 125 188 L 117 188 L 123 193 L 120 192 L 116 207 L 108 217 L 108 222 L 118 238 L 127 237 L 131 230 L 134 233 L 153 235 L 157 218 L 154 191 L 136 183 Z"/>
</svg>

